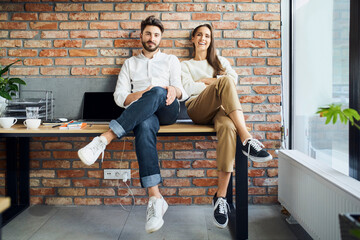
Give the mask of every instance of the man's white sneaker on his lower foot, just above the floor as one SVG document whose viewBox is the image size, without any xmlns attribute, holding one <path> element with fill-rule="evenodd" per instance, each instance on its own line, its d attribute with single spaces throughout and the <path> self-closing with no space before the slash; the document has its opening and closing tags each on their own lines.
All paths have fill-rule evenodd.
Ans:
<svg viewBox="0 0 360 240">
<path fill-rule="evenodd" d="M 145 230 L 148 233 L 159 230 L 164 224 L 163 216 L 168 209 L 168 204 L 163 197 L 151 197 L 146 210 Z"/>
</svg>

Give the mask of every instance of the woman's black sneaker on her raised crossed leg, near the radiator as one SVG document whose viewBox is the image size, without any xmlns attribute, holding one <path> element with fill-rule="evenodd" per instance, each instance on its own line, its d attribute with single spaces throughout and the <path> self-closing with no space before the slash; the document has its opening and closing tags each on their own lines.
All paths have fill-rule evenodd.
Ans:
<svg viewBox="0 0 360 240">
<path fill-rule="evenodd" d="M 247 138 L 242 145 L 242 151 L 245 156 L 254 162 L 267 162 L 272 160 L 272 156 L 262 149 L 264 145 L 259 140 Z"/>
</svg>

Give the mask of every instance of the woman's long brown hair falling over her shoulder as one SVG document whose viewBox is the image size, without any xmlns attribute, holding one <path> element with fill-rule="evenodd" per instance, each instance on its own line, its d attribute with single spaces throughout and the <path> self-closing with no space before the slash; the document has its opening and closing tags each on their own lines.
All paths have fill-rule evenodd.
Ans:
<svg viewBox="0 0 360 240">
<path fill-rule="evenodd" d="M 214 75 L 213 77 L 216 78 L 216 75 L 222 75 L 225 73 L 225 69 L 223 68 L 223 66 L 220 63 L 220 60 L 218 58 L 218 56 L 216 55 L 216 49 L 215 49 L 215 44 L 214 44 L 214 32 L 213 32 L 213 28 L 211 27 L 210 24 L 201 24 L 199 26 L 197 26 L 193 32 L 192 32 L 192 37 L 195 36 L 197 30 L 201 27 L 207 27 L 210 30 L 210 45 L 207 49 L 207 54 L 206 54 L 206 60 L 208 61 L 208 63 L 210 64 L 210 66 L 212 66 L 214 68 Z M 195 45 L 193 46 L 194 50 L 195 50 Z"/>
</svg>

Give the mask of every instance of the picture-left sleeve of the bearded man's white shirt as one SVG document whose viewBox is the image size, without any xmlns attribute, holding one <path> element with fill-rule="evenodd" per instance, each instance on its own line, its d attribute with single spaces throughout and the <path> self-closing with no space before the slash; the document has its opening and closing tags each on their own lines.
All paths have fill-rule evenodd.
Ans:
<svg viewBox="0 0 360 240">
<path fill-rule="evenodd" d="M 122 66 L 118 80 L 116 82 L 116 88 L 114 92 L 114 100 L 115 103 L 122 108 L 126 108 L 128 106 L 124 106 L 124 102 L 127 96 L 131 93 L 131 82 L 130 82 L 130 68 L 129 68 L 129 59 L 125 61 Z"/>
</svg>

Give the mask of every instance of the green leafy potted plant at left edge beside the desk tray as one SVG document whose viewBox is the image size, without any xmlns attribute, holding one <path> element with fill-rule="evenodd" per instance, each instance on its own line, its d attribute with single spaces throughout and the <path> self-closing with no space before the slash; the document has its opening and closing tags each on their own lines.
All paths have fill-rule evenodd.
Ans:
<svg viewBox="0 0 360 240">
<path fill-rule="evenodd" d="M 20 78 L 9 78 L 3 76 L 9 68 L 18 61 L 20 60 L 17 60 L 0 69 L 0 116 L 2 116 L 5 110 L 5 100 L 12 100 L 12 96 L 15 96 L 16 92 L 19 91 L 18 84 L 26 85 L 26 83 Z"/>
</svg>

